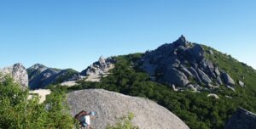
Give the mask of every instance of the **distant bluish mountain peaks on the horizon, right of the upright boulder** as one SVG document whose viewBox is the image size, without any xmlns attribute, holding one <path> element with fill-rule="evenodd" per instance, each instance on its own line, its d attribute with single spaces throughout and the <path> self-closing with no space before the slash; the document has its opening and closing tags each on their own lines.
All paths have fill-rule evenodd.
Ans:
<svg viewBox="0 0 256 129">
<path fill-rule="evenodd" d="M 43 64 L 34 64 L 27 69 L 27 72 L 29 75 L 29 87 L 31 89 L 44 88 L 52 83 L 61 83 L 79 78 L 79 72 L 75 70 L 48 68 Z"/>
</svg>

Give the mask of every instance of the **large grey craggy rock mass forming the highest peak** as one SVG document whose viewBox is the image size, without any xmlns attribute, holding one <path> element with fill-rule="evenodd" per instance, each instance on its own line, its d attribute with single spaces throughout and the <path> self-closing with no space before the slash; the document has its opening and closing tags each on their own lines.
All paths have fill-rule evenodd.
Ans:
<svg viewBox="0 0 256 129">
<path fill-rule="evenodd" d="M 155 81 L 179 89 L 188 86 L 195 90 L 206 89 L 201 86 L 211 89 L 223 83 L 235 87 L 232 77 L 206 58 L 202 45 L 189 42 L 184 36 L 146 52 L 138 64 Z"/>
</svg>

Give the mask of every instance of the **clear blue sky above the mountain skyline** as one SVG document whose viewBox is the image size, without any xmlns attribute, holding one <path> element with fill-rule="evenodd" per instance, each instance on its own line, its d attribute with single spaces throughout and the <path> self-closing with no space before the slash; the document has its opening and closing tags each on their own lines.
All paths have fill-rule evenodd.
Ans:
<svg viewBox="0 0 256 129">
<path fill-rule="evenodd" d="M 1 0 L 0 67 L 83 70 L 183 34 L 256 68 L 255 0 Z"/>
</svg>

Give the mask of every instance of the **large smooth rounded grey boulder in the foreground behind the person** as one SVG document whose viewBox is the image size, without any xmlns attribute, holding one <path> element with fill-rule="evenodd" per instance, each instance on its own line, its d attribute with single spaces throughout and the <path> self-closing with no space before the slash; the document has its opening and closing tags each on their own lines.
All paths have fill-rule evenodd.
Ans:
<svg viewBox="0 0 256 129">
<path fill-rule="evenodd" d="M 91 126 L 105 129 L 108 124 L 128 113 L 135 115 L 132 123 L 141 129 L 188 129 L 183 121 L 169 110 L 146 98 L 130 97 L 105 90 L 81 90 L 67 94 L 71 114 L 81 110 L 96 111 L 96 120 Z"/>
</svg>

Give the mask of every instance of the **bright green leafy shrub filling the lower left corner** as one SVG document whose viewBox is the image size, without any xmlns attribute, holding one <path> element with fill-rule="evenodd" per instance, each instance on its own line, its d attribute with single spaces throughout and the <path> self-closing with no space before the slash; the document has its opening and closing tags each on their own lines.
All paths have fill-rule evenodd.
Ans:
<svg viewBox="0 0 256 129">
<path fill-rule="evenodd" d="M 61 93 L 49 95 L 47 103 L 28 99 L 29 91 L 21 89 L 9 76 L 0 81 L 0 128 L 72 128 L 73 118 L 67 114 Z M 46 109 L 46 104 L 51 108 Z"/>
</svg>

